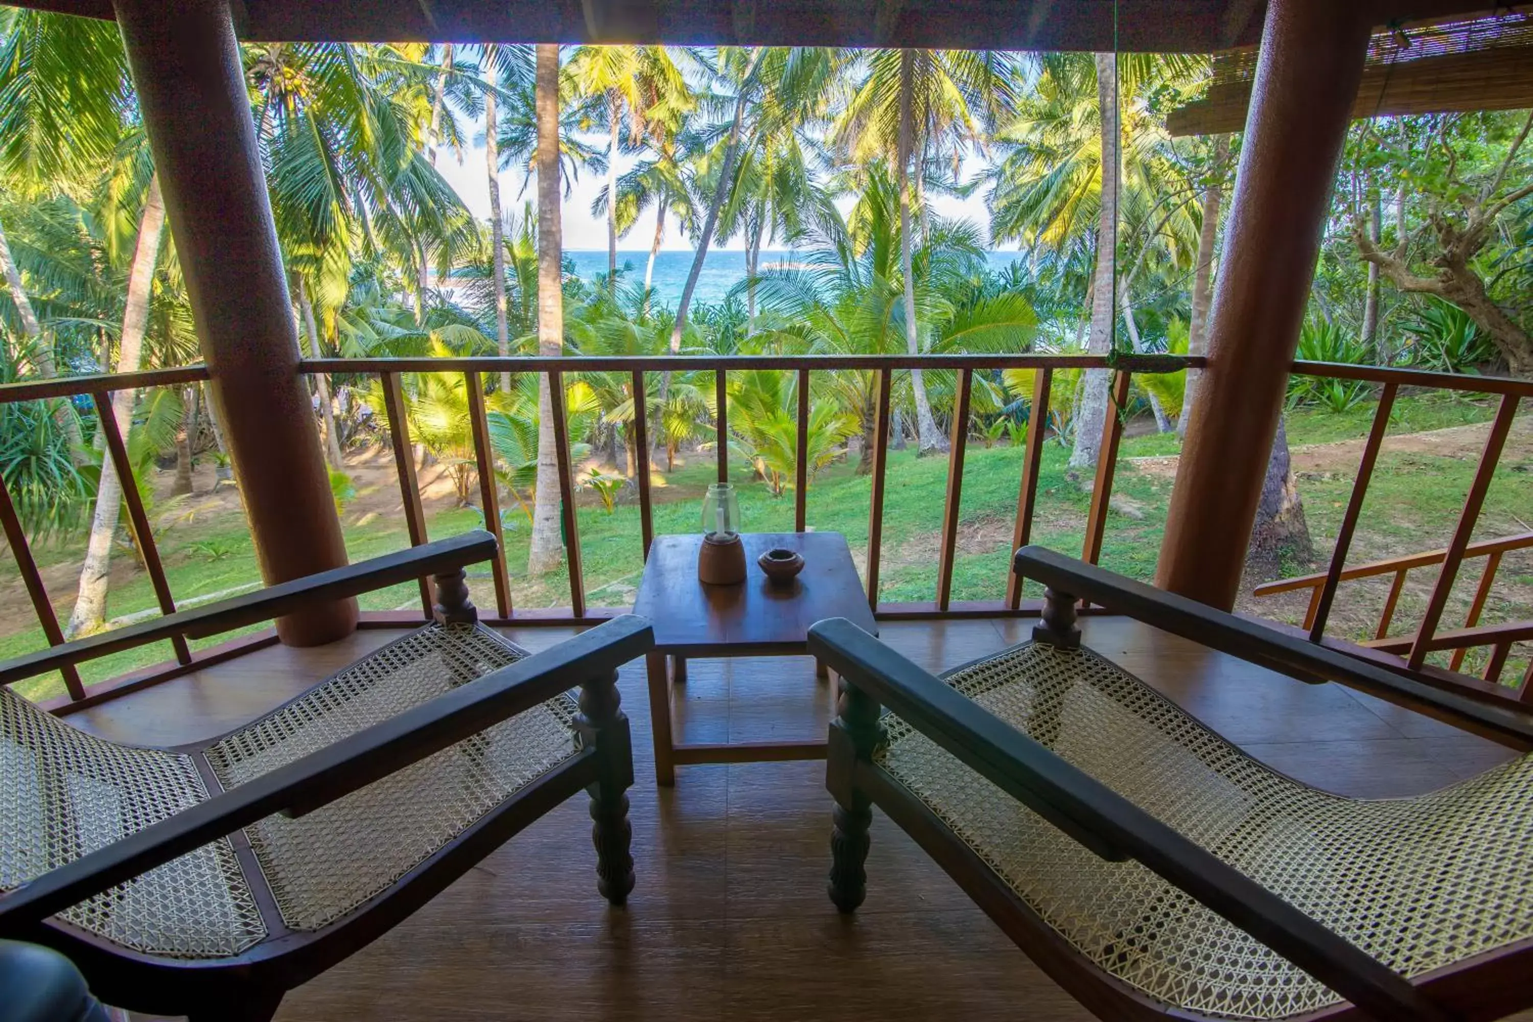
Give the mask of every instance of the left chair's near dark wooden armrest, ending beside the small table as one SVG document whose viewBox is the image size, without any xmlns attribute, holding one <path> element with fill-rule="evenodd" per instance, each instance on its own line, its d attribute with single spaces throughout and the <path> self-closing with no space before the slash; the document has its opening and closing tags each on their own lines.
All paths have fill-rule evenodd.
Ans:
<svg viewBox="0 0 1533 1022">
<path fill-rule="evenodd" d="M 650 622 L 625 614 L 509 663 L 23 884 L 0 896 L 0 933 L 37 924 L 256 820 L 313 812 L 572 685 L 612 674 L 653 645 Z"/>
</svg>

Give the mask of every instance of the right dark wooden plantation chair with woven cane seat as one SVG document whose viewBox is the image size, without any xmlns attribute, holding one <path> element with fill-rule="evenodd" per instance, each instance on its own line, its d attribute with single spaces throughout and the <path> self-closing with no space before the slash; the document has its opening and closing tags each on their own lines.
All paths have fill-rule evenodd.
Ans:
<svg viewBox="0 0 1533 1022">
<path fill-rule="evenodd" d="M 846 621 L 829 893 L 862 904 L 878 806 L 1105 1019 L 1495 1019 L 1533 1004 L 1533 757 L 1355 800 L 1251 758 L 1079 645 L 1088 599 L 1308 682 L 1527 749 L 1533 722 L 1038 547 L 1033 640 L 932 677 Z M 885 714 L 881 708 L 888 708 Z"/>
</svg>

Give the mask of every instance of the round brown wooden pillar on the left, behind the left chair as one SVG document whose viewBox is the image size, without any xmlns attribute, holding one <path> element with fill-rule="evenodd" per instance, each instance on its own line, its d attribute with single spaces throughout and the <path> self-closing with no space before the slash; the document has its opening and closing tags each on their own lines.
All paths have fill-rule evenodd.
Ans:
<svg viewBox="0 0 1533 1022">
<path fill-rule="evenodd" d="M 218 421 L 261 575 L 346 564 L 228 0 L 113 0 Z M 356 628 L 354 599 L 277 621 L 288 645 Z"/>
</svg>

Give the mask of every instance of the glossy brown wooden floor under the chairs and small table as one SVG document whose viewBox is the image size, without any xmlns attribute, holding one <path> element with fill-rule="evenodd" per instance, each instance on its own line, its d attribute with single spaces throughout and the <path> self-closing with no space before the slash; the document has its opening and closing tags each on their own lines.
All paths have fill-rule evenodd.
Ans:
<svg viewBox="0 0 1533 1022">
<path fill-rule="evenodd" d="M 1309 686 L 1121 617 L 1085 642 L 1274 768 L 1357 797 L 1409 795 L 1508 754 L 1351 693 Z M 1030 622 L 886 622 L 883 637 L 943 670 L 1027 636 Z M 212 735 L 399 633 L 322 650 L 273 647 L 72 717 L 113 739 Z M 569 631 L 507 630 L 538 650 Z M 820 763 L 678 768 L 656 791 L 642 665 L 619 682 L 635 725 L 638 886 L 596 895 L 590 820 L 566 803 L 412 919 L 284 1002 L 281 1022 L 435 1019 L 1087 1019 L 886 820 L 868 902 L 825 898 L 829 797 Z M 688 742 L 823 737 L 826 682 L 808 659 L 696 660 L 675 694 Z"/>
</svg>

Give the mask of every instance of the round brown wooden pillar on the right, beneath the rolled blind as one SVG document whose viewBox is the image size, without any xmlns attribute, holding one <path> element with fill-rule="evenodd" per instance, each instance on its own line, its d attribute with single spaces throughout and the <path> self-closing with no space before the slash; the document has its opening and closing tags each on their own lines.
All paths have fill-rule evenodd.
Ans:
<svg viewBox="0 0 1533 1022">
<path fill-rule="evenodd" d="M 1229 610 L 1367 54 L 1363 5 L 1271 0 L 1156 584 Z"/>
</svg>

